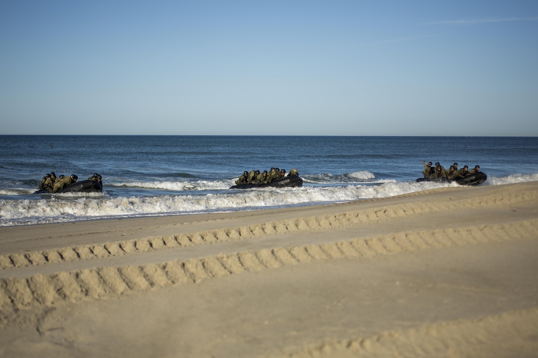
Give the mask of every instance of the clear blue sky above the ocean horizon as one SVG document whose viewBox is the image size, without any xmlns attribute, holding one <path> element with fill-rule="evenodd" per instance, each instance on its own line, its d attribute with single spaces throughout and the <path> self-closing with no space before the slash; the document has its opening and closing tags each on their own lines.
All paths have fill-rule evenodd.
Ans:
<svg viewBox="0 0 538 358">
<path fill-rule="evenodd" d="M 0 1 L 2 134 L 538 136 L 538 1 Z"/>
</svg>

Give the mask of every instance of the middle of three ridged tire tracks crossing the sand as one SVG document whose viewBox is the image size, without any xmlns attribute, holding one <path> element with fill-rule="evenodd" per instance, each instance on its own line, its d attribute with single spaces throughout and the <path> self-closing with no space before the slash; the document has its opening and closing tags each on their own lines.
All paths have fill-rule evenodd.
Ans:
<svg viewBox="0 0 538 358">
<path fill-rule="evenodd" d="M 495 233 L 495 235 L 490 235 Z M 276 247 L 141 266 L 100 267 L 0 280 L 0 326 L 19 310 L 147 291 L 299 263 L 538 237 L 538 219 L 492 226 L 407 231 L 329 244 Z"/>
</svg>

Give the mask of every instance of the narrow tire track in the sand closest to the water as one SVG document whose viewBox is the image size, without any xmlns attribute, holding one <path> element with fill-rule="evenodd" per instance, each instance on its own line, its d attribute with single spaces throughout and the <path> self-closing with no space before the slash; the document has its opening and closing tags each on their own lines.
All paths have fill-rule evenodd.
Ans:
<svg viewBox="0 0 538 358">
<path fill-rule="evenodd" d="M 222 228 L 203 232 L 178 233 L 163 237 L 107 242 L 81 246 L 60 247 L 29 253 L 11 253 L 0 255 L 0 269 L 37 266 L 46 263 L 69 262 L 76 260 L 101 259 L 132 253 L 145 253 L 167 248 L 207 245 L 214 242 L 231 240 L 249 240 L 276 234 L 297 232 L 320 232 L 338 228 L 360 227 L 391 219 L 403 219 L 439 211 L 456 211 L 472 209 L 477 205 L 489 207 L 508 207 L 514 204 L 532 203 L 538 200 L 538 192 L 521 191 L 514 195 L 493 193 L 478 199 L 452 201 L 450 198 L 439 202 L 425 202 L 386 205 L 368 210 L 350 211 L 332 215 L 300 217 L 288 220 L 271 221 L 239 227 Z M 494 233 L 490 233 L 494 234 Z"/>
</svg>

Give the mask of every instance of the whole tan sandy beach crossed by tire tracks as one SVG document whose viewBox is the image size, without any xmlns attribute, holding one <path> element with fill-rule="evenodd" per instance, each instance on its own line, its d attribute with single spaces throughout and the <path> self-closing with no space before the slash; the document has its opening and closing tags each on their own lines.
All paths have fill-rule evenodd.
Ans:
<svg viewBox="0 0 538 358">
<path fill-rule="evenodd" d="M 0 232 L 5 357 L 538 356 L 538 182 Z"/>
</svg>

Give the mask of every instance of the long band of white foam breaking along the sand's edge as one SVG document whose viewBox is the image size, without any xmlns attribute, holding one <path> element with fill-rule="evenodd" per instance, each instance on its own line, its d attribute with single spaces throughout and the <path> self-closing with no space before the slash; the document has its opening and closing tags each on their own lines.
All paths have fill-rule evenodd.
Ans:
<svg viewBox="0 0 538 358">
<path fill-rule="evenodd" d="M 488 185 L 538 180 L 538 174 L 489 177 Z M 211 182 L 207 182 L 207 187 Z M 216 181 L 215 187 L 228 188 L 230 181 Z M 255 188 L 217 190 L 215 194 L 109 196 L 102 193 L 66 193 L 42 199 L 0 199 L 0 226 L 62 223 L 101 218 L 162 216 L 201 212 L 253 210 L 267 207 L 301 206 L 320 203 L 348 202 L 367 198 L 383 198 L 441 187 L 457 187 L 456 183 L 396 182 L 300 188 Z M 162 189 L 162 188 L 160 188 Z M 8 190 L 9 191 L 9 190 Z"/>
</svg>

